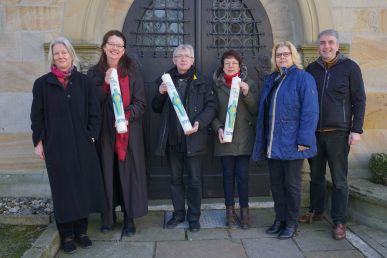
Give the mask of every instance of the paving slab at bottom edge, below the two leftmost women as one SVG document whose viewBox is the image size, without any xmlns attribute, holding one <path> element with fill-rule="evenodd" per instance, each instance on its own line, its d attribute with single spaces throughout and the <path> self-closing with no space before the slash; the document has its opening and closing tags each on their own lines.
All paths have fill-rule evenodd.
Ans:
<svg viewBox="0 0 387 258">
<path fill-rule="evenodd" d="M 74 254 L 66 254 L 59 251 L 57 257 L 82 257 L 82 258 L 152 258 L 154 252 L 154 243 L 129 243 L 119 241 L 94 241 L 93 246 L 88 249 L 78 248 Z"/>
</svg>

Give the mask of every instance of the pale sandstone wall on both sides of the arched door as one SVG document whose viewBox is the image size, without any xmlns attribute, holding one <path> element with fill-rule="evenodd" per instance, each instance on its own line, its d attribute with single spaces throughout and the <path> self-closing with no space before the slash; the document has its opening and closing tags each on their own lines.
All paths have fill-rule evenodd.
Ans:
<svg viewBox="0 0 387 258">
<path fill-rule="evenodd" d="M 48 71 L 44 43 L 63 35 L 79 46 L 100 44 L 109 29 L 121 29 L 133 0 L 1 0 L 0 1 L 0 139 L 12 145 L 15 135 L 26 139 L 14 145 L 30 146 L 29 109 L 34 80 Z M 363 71 L 367 91 L 367 115 L 363 142 L 351 151 L 351 166 L 365 168 L 371 151 L 387 151 L 387 0 L 261 0 L 275 41 L 311 44 L 319 30 L 333 27 L 341 41 L 350 44 L 350 57 Z M 82 58 L 82 56 L 81 56 Z M 85 59 L 89 60 L 90 59 Z M 376 144 L 376 145 L 374 145 Z M 15 156 L 32 156 L 32 146 L 15 148 Z M 21 154 L 22 152 L 22 154 Z M 0 154 L 0 172 L 26 170 L 2 167 L 8 156 Z M 7 154 L 11 155 L 11 154 Z M 360 164 L 360 165 L 359 165 Z M 35 168 L 35 166 L 31 166 Z"/>
</svg>

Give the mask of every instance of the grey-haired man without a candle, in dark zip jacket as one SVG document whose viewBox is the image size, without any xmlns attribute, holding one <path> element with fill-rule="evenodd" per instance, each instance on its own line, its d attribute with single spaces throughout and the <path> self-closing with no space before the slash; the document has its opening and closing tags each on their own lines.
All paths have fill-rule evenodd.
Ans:
<svg viewBox="0 0 387 258">
<path fill-rule="evenodd" d="M 317 83 L 320 117 L 316 132 L 317 156 L 311 169 L 310 210 L 299 222 L 321 220 L 326 192 L 326 163 L 332 177 L 333 238 L 346 237 L 348 154 L 363 132 L 366 96 L 359 66 L 338 52 L 339 35 L 329 29 L 318 36 L 320 57 L 307 67 Z"/>
</svg>

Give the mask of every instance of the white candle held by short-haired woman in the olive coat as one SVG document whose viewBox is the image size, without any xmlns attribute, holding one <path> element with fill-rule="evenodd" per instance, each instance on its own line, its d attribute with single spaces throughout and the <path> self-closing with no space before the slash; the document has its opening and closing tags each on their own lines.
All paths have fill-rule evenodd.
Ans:
<svg viewBox="0 0 387 258">
<path fill-rule="evenodd" d="M 232 78 L 231 88 L 230 88 L 230 96 L 228 98 L 227 105 L 227 115 L 226 115 L 226 123 L 224 125 L 224 142 L 232 142 L 232 136 L 234 133 L 234 125 L 236 119 L 236 111 L 239 100 L 239 83 L 241 82 L 241 78 L 235 76 Z"/>
</svg>

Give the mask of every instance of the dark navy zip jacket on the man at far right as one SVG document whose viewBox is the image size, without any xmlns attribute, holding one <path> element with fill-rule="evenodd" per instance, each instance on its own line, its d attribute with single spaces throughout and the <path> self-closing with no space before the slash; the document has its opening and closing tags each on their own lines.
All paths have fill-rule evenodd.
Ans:
<svg viewBox="0 0 387 258">
<path fill-rule="evenodd" d="M 306 71 L 317 84 L 320 104 L 317 128 L 362 133 L 366 95 L 360 67 L 339 54 L 330 68 L 325 68 L 320 57 Z"/>
</svg>

